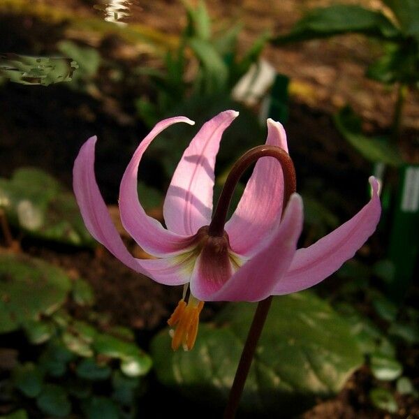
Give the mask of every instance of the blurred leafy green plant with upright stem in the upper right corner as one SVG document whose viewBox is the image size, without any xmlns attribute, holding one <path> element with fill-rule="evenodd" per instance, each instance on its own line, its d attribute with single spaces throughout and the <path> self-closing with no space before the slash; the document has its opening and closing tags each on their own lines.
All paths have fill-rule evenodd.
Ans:
<svg viewBox="0 0 419 419">
<path fill-rule="evenodd" d="M 419 3 L 416 0 L 383 0 L 383 3 L 391 11 L 391 19 L 381 11 L 335 4 L 307 13 L 289 34 L 277 36 L 272 42 L 284 45 L 348 33 L 363 34 L 381 41 L 381 57 L 367 68 L 366 75 L 384 84 L 397 84 L 389 137 L 368 138 L 362 134 L 360 124 L 353 124 L 354 115 L 348 109 L 339 112 L 335 122 L 344 138 L 369 161 L 399 166 L 402 159 L 395 151 L 395 143 L 402 126 L 404 101 L 409 89 L 419 87 Z"/>
</svg>

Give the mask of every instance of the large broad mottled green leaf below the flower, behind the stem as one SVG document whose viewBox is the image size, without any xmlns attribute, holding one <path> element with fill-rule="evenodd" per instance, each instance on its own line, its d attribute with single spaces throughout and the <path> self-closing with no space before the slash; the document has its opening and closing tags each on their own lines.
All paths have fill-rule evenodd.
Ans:
<svg viewBox="0 0 419 419">
<path fill-rule="evenodd" d="M 223 405 L 256 304 L 229 304 L 215 325 L 200 325 L 190 352 L 170 349 L 167 331 L 152 341 L 156 374 L 164 385 L 195 401 Z M 341 390 L 362 365 L 346 321 L 313 293 L 276 298 L 244 388 L 242 409 L 297 415 Z"/>
</svg>

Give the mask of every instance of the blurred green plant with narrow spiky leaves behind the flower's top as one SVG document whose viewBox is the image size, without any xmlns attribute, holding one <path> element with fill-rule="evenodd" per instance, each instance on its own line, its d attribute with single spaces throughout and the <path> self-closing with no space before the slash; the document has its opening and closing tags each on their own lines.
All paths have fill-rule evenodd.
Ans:
<svg viewBox="0 0 419 419">
<path fill-rule="evenodd" d="M 196 7 L 184 0 L 187 23 L 177 51 L 166 54 L 165 71 L 140 68 L 156 89 L 156 100 L 140 98 L 137 109 L 149 126 L 179 109 L 179 103 L 198 98 L 226 96 L 256 64 L 269 34 L 260 36 L 242 57 L 237 53 L 237 39 L 242 29 L 236 24 L 230 29 L 212 33 L 210 15 L 203 0 Z M 196 63 L 192 80 L 186 80 L 186 66 Z M 180 115 L 180 114 L 179 114 Z"/>
</svg>

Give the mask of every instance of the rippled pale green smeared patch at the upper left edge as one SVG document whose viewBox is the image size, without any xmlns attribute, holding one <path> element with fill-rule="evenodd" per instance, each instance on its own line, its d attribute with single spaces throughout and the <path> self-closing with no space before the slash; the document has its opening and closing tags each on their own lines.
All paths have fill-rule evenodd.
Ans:
<svg viewBox="0 0 419 419">
<path fill-rule="evenodd" d="M 77 68 L 78 64 L 71 58 L 0 54 L 0 81 L 6 78 L 20 84 L 49 86 L 69 82 Z"/>
</svg>

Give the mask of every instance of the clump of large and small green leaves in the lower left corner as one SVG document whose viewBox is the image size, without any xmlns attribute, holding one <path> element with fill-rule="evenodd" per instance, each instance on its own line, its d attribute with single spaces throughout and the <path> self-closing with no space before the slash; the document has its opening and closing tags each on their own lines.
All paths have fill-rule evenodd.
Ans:
<svg viewBox="0 0 419 419">
<path fill-rule="evenodd" d="M 30 406 L 54 418 L 70 413 L 89 419 L 137 417 L 135 402 L 152 360 L 135 344 L 131 330 L 103 332 L 94 321 L 68 314 L 68 299 L 94 304 L 87 282 L 71 280 L 29 256 L 0 253 L 0 284 L 0 335 L 20 330 L 30 345 L 10 365 L 2 397 L 11 411 Z M 10 339 L 0 340 L 10 346 Z M 6 416 L 25 417 L 24 410 Z"/>
</svg>

